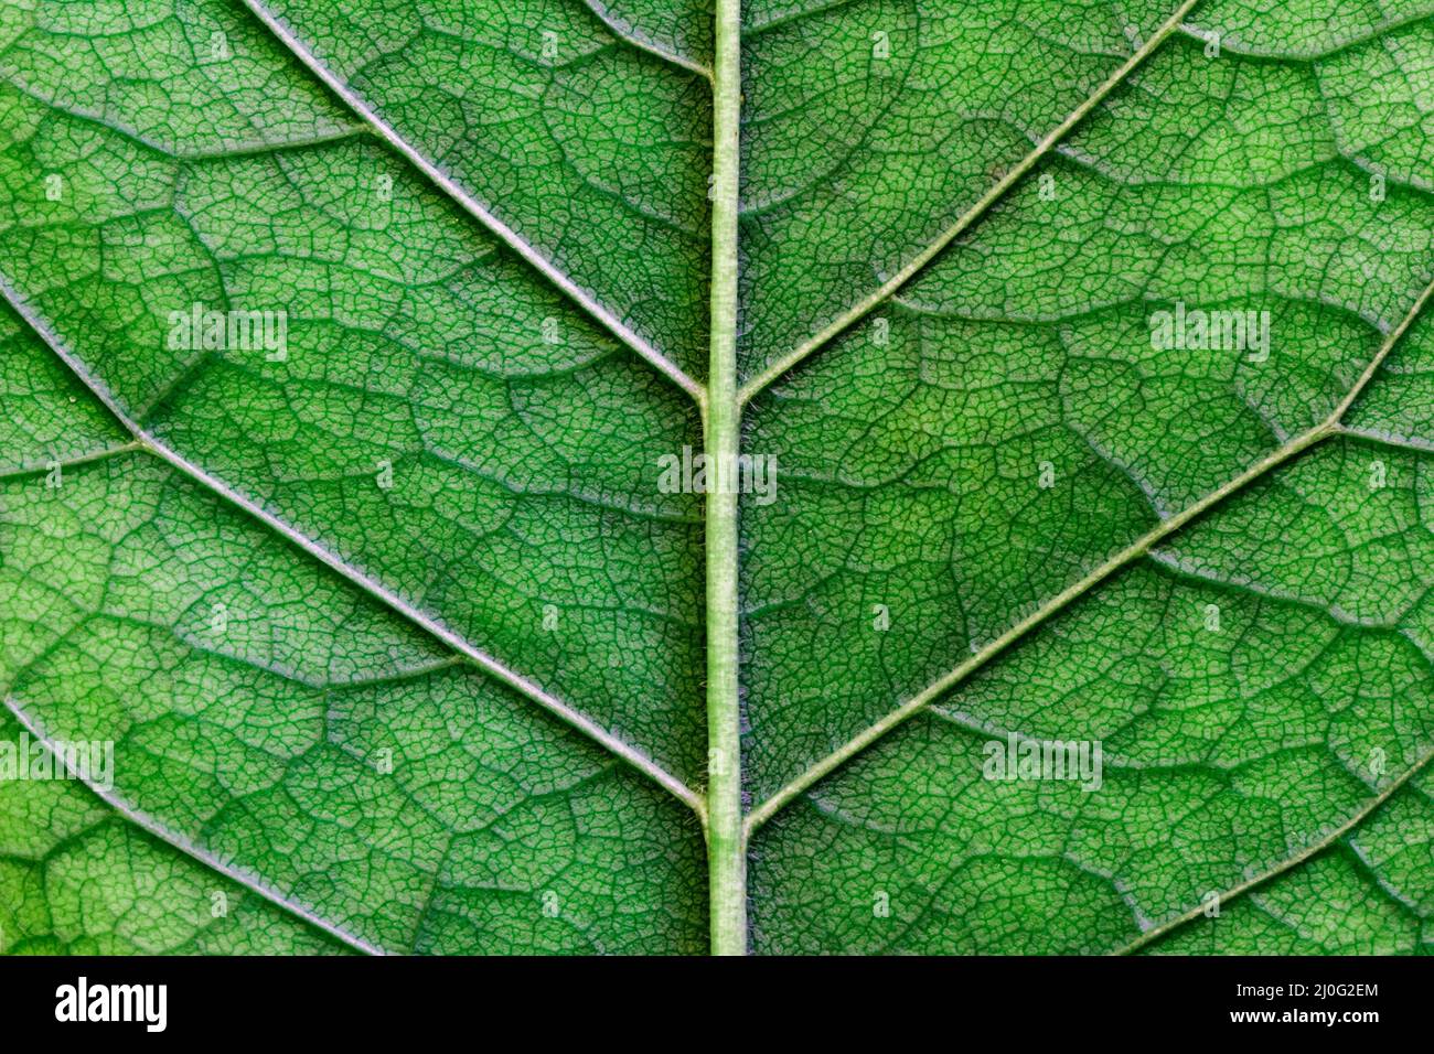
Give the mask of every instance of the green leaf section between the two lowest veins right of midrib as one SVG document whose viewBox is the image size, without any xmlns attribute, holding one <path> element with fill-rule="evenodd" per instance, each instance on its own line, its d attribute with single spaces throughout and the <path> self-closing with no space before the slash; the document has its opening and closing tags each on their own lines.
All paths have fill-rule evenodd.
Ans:
<svg viewBox="0 0 1434 1054">
<path fill-rule="evenodd" d="M 1371 495 L 1375 457 L 1390 482 Z M 1117 951 L 1378 810 L 1434 756 L 1427 473 L 1329 446 L 1154 549 L 774 820 L 759 932 L 812 951 Z M 987 744 L 1011 734 L 1100 741 L 1100 786 L 989 779 Z M 1404 829 L 1415 859 L 1434 822 L 1417 786 L 1400 806 L 1423 816 Z M 1365 862 L 1397 913 L 1434 908 L 1427 868 Z"/>
</svg>

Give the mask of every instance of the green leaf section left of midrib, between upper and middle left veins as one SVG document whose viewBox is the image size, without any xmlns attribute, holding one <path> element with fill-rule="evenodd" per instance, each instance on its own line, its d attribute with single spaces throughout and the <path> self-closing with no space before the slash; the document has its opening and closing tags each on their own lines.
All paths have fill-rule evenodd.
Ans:
<svg viewBox="0 0 1434 1054">
<path fill-rule="evenodd" d="M 208 56 L 212 27 L 323 102 L 250 16 L 159 14 L 161 72 L 179 65 L 161 56 L 181 30 Z M 36 22 L 27 53 L 77 46 Z M 136 40 L 95 20 L 67 32 L 82 30 L 102 52 Z M 199 62 L 181 79 L 241 110 L 248 146 L 166 82 L 105 119 L 0 86 L 9 281 L 156 442 L 386 597 L 700 771 L 700 505 L 654 492 L 651 459 L 631 456 L 700 443 L 691 407 L 373 136 L 313 142 L 337 113 L 284 109 L 271 125 Z M 175 136 L 215 156 L 139 142 Z M 282 307 L 285 359 L 175 348 L 171 314 L 196 304 Z"/>
</svg>

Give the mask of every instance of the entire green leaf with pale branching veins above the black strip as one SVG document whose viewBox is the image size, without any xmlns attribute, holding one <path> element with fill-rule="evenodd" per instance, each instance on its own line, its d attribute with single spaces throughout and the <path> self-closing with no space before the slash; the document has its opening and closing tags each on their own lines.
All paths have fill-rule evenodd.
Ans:
<svg viewBox="0 0 1434 1054">
<path fill-rule="evenodd" d="M 7 11 L 0 946 L 1428 949 L 1428 4 Z"/>
</svg>

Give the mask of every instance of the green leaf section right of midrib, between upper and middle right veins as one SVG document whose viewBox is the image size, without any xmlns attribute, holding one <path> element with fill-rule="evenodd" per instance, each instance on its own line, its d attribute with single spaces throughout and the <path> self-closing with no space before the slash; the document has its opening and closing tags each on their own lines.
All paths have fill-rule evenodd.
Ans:
<svg viewBox="0 0 1434 1054">
<path fill-rule="evenodd" d="M 1392 175 L 1369 199 L 1302 65 L 1259 70 L 1308 146 L 1230 119 L 1253 83 L 1242 62 L 1170 42 L 985 225 L 754 407 L 751 446 L 787 486 L 747 516 L 759 789 L 1316 427 L 1408 313 L 1434 199 Z M 1265 360 L 1152 347 L 1152 311 L 1177 301 L 1268 311 Z M 876 605 L 896 632 L 872 632 Z M 840 677 L 804 661 L 817 640 Z"/>
</svg>

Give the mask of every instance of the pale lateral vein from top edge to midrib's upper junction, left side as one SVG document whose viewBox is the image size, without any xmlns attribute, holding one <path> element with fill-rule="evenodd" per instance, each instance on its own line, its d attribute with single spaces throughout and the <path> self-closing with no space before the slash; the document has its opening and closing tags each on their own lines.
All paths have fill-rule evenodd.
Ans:
<svg viewBox="0 0 1434 1054">
<path fill-rule="evenodd" d="M 559 271 L 552 262 L 533 250 L 532 245 L 523 241 L 523 238 L 513 228 L 495 217 L 482 205 L 482 202 L 459 186 L 452 176 L 423 156 L 423 153 L 409 143 L 407 139 L 399 135 L 399 132 L 389 125 L 389 122 L 380 118 L 379 113 L 369 106 L 369 103 L 354 93 L 343 80 L 334 76 L 334 73 L 323 62 L 320 62 L 318 56 L 314 54 L 303 40 L 300 40 L 298 34 L 294 33 L 287 23 L 264 7 L 260 0 L 244 0 L 244 6 L 250 9 L 255 19 L 268 27 L 268 30 L 285 49 L 288 49 L 288 52 L 294 54 L 295 59 L 308 67 L 310 73 L 318 77 L 328 87 L 328 90 L 338 96 L 338 99 L 356 116 L 363 119 L 363 122 L 367 123 L 376 135 L 402 153 L 414 168 L 423 172 L 423 175 L 426 175 L 435 186 L 457 204 L 459 208 L 478 219 L 513 252 L 526 260 L 588 315 L 601 323 L 614 337 L 621 340 L 647 363 L 655 367 L 658 373 L 683 389 L 683 391 L 691 396 L 697 403 L 703 402 L 704 387 L 701 383 L 690 377 L 677 363 L 652 347 L 651 343 L 648 343 L 608 308 L 602 307 L 602 304 L 599 304 L 587 290 L 579 287 L 575 281 L 572 281 L 572 278 Z"/>
</svg>

